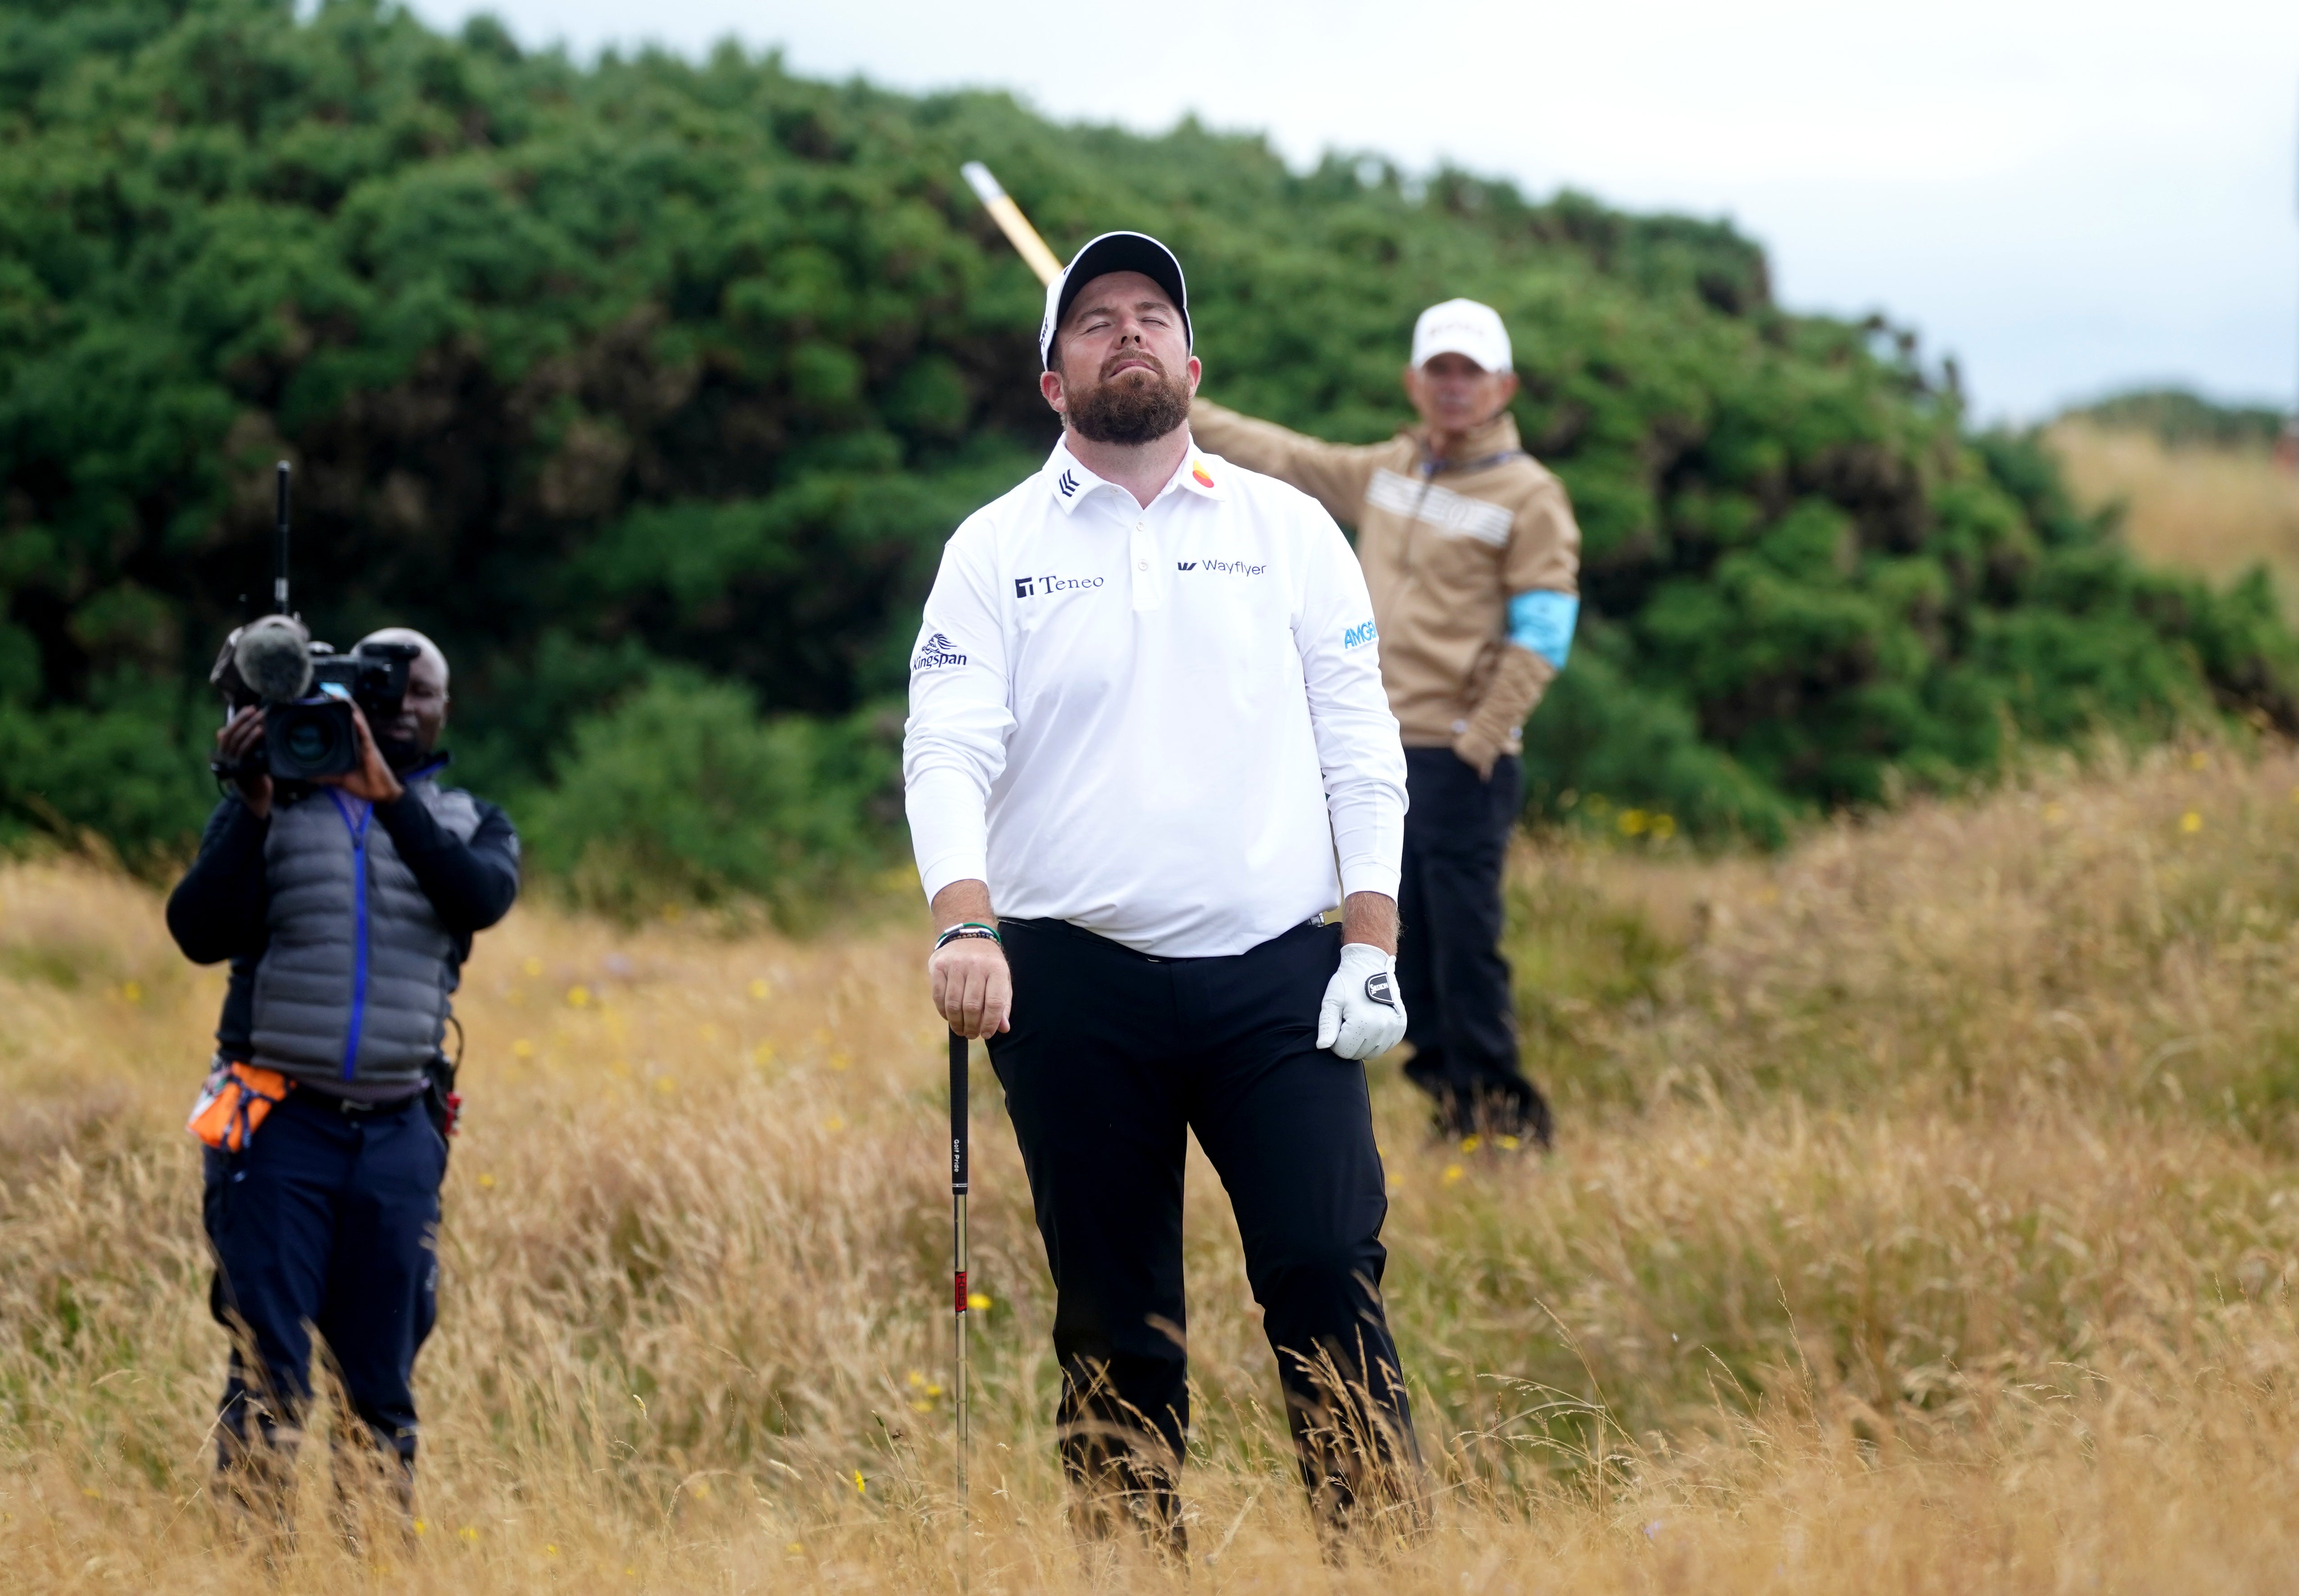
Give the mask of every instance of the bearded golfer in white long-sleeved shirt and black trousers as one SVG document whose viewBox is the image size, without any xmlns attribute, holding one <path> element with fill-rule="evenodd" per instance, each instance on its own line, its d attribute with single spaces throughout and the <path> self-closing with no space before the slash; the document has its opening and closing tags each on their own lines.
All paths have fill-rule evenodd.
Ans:
<svg viewBox="0 0 2299 1596">
<path fill-rule="evenodd" d="M 1030 1171 L 1076 1518 L 1182 1541 L 1189 1131 L 1237 1210 L 1313 1509 L 1414 1516 L 1361 1065 L 1405 1035 L 1405 754 L 1366 582 L 1313 499 L 1191 442 L 1163 244 L 1078 251 L 1039 354 L 1062 442 L 943 552 L 904 777 L 933 1003 L 989 1039 Z"/>
</svg>

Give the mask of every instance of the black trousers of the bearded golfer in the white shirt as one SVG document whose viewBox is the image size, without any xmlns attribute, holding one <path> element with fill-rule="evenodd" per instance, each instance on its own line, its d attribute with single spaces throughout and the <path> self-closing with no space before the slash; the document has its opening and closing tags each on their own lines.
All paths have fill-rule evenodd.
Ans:
<svg viewBox="0 0 2299 1596">
<path fill-rule="evenodd" d="M 1366 1069 L 1315 1046 L 1340 929 L 1304 924 L 1216 959 L 1156 959 L 1058 920 L 1000 929 L 1014 1028 L 989 1051 L 1053 1272 L 1081 1522 L 1101 1532 L 1115 1511 L 1182 1534 L 1189 1131 L 1237 1210 L 1313 1509 L 1336 1529 L 1418 1516 Z"/>
</svg>

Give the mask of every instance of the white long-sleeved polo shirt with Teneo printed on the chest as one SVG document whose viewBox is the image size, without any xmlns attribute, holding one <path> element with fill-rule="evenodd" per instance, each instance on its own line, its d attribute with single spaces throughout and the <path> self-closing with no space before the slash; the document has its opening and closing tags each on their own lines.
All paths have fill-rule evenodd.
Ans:
<svg viewBox="0 0 2299 1596">
<path fill-rule="evenodd" d="M 1058 444 L 966 517 L 901 766 L 929 899 L 979 878 L 1000 915 L 1179 959 L 1398 892 L 1405 750 L 1356 554 L 1195 448 L 1143 508 Z"/>
</svg>

